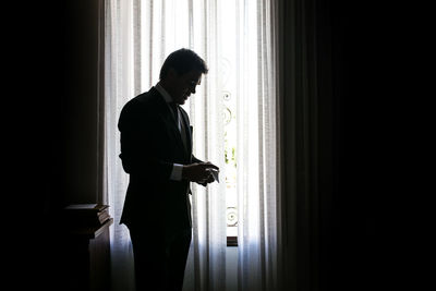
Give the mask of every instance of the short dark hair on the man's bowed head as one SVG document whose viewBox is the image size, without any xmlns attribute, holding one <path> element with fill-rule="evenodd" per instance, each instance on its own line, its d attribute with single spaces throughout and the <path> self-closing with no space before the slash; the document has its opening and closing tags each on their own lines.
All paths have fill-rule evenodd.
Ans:
<svg viewBox="0 0 436 291">
<path fill-rule="evenodd" d="M 167 76 L 168 70 L 172 68 L 179 75 L 183 75 L 192 70 L 207 74 L 208 69 L 206 62 L 190 49 L 179 49 L 171 52 L 165 60 L 160 69 L 159 78 Z"/>
</svg>

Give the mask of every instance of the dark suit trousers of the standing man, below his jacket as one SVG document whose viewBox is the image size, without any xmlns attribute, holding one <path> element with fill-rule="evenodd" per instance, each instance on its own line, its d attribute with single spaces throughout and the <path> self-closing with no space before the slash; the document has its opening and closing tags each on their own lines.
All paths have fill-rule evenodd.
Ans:
<svg viewBox="0 0 436 291">
<path fill-rule="evenodd" d="M 192 230 L 180 230 L 170 242 L 146 228 L 129 227 L 136 291 L 181 291 Z"/>
</svg>

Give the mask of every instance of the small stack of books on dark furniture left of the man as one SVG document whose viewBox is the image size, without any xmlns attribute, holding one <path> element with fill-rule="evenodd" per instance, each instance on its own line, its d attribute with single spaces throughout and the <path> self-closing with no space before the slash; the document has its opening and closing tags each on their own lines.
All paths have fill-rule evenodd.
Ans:
<svg viewBox="0 0 436 291">
<path fill-rule="evenodd" d="M 66 223 L 73 228 L 98 228 L 110 219 L 109 206 L 101 204 L 71 204 L 63 214 Z"/>
</svg>

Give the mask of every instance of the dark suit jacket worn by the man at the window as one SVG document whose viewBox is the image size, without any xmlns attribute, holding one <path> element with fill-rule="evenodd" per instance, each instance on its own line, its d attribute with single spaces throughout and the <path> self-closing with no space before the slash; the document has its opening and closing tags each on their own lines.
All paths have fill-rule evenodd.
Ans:
<svg viewBox="0 0 436 291">
<path fill-rule="evenodd" d="M 147 229 L 167 241 L 175 231 L 192 227 L 190 183 L 170 180 L 172 165 L 199 161 L 192 156 L 189 117 L 180 109 L 186 149 L 171 110 L 155 87 L 126 102 L 118 123 L 120 158 L 130 174 L 120 223 Z"/>
</svg>

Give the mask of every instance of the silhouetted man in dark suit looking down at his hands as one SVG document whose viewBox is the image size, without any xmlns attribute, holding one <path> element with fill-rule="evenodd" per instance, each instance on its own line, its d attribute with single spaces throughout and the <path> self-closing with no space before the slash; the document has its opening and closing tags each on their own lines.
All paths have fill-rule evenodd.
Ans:
<svg viewBox="0 0 436 291">
<path fill-rule="evenodd" d="M 214 182 L 210 170 L 218 167 L 192 155 L 192 126 L 180 105 L 207 71 L 194 51 L 177 50 L 156 86 L 120 114 L 120 158 L 130 174 L 120 223 L 130 230 L 137 290 L 182 290 L 192 229 L 190 182 Z"/>
</svg>

